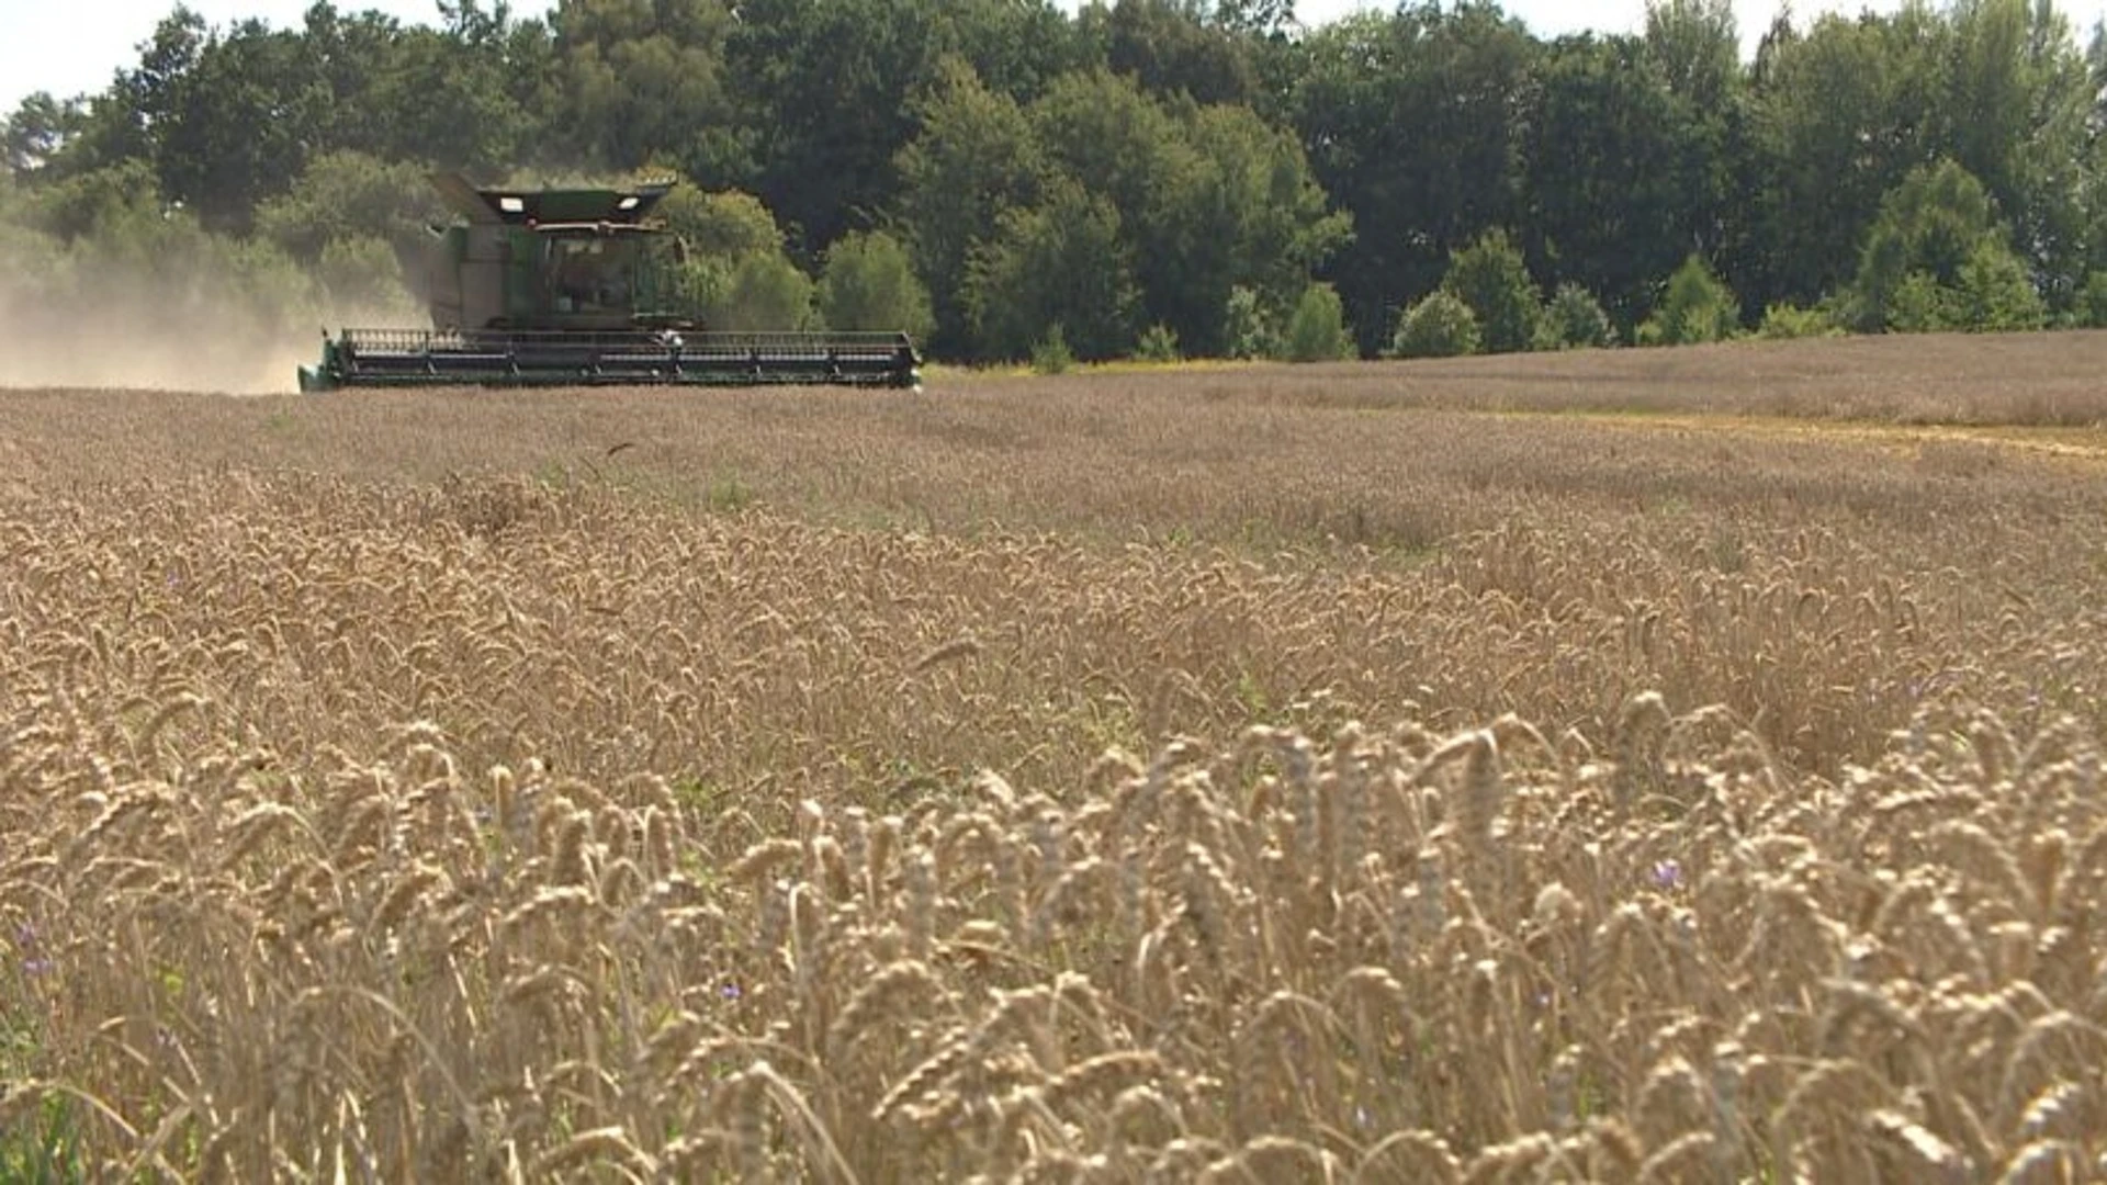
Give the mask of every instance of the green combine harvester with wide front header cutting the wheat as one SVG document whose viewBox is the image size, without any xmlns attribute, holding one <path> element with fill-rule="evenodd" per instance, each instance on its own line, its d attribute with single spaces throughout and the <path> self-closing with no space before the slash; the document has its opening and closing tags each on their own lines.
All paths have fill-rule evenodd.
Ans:
<svg viewBox="0 0 2107 1185">
<path fill-rule="evenodd" d="M 651 209 L 672 186 L 478 190 L 432 183 L 461 215 L 434 228 L 432 329 L 346 329 L 299 390 L 402 386 L 914 388 L 906 333 L 727 333 L 670 312 L 683 242 Z"/>
</svg>

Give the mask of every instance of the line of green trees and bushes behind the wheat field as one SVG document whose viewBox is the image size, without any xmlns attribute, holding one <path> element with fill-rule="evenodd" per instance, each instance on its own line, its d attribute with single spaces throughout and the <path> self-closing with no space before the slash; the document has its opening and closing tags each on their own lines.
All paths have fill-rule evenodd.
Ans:
<svg viewBox="0 0 2107 1185">
<path fill-rule="evenodd" d="M 1747 61 L 1728 0 L 1555 40 L 1490 2 L 438 13 L 177 6 L 103 91 L 27 97 L 13 299 L 93 312 L 147 270 L 261 318 L 411 316 L 396 247 L 464 169 L 678 177 L 706 318 L 957 361 L 2107 325 L 2107 42 L 2050 0 L 1780 11 Z"/>
</svg>

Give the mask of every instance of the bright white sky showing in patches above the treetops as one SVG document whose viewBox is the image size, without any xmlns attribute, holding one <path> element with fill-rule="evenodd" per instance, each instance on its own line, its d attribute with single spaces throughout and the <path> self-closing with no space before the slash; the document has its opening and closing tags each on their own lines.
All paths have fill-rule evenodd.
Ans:
<svg viewBox="0 0 2107 1185">
<path fill-rule="evenodd" d="M 272 25 L 299 25 L 310 0 L 190 0 L 215 25 L 261 17 Z M 1072 6 L 1072 4 L 1070 4 Z M 1892 11 L 1894 0 L 1797 0 L 1793 13 L 1806 21 L 1825 11 Z M 32 91 L 70 97 L 101 91 L 112 74 L 139 61 L 139 42 L 154 34 L 175 0 L 0 0 L 0 114 L 8 114 Z M 436 0 L 337 0 L 341 11 L 379 8 L 405 21 L 436 21 Z M 537 0 L 514 0 L 516 11 L 539 8 Z M 1380 0 L 1298 0 L 1296 13 L 1317 25 L 1357 8 L 1389 11 Z M 1646 0 L 1507 0 L 1540 36 L 1578 30 L 1637 32 L 1646 21 Z M 2084 42 L 2094 21 L 2107 17 L 2107 0 L 2061 0 L 2059 8 Z M 1751 51 L 1778 0 L 1734 0 L 1742 48 Z"/>
</svg>

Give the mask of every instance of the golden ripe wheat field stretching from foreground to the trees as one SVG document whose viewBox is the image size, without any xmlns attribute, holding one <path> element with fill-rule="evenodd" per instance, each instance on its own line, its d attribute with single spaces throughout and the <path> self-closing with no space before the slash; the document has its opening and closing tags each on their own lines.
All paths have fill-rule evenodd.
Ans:
<svg viewBox="0 0 2107 1185">
<path fill-rule="evenodd" d="M 2103 371 L 0 392 L 0 1179 L 2107 1177 Z"/>
</svg>

